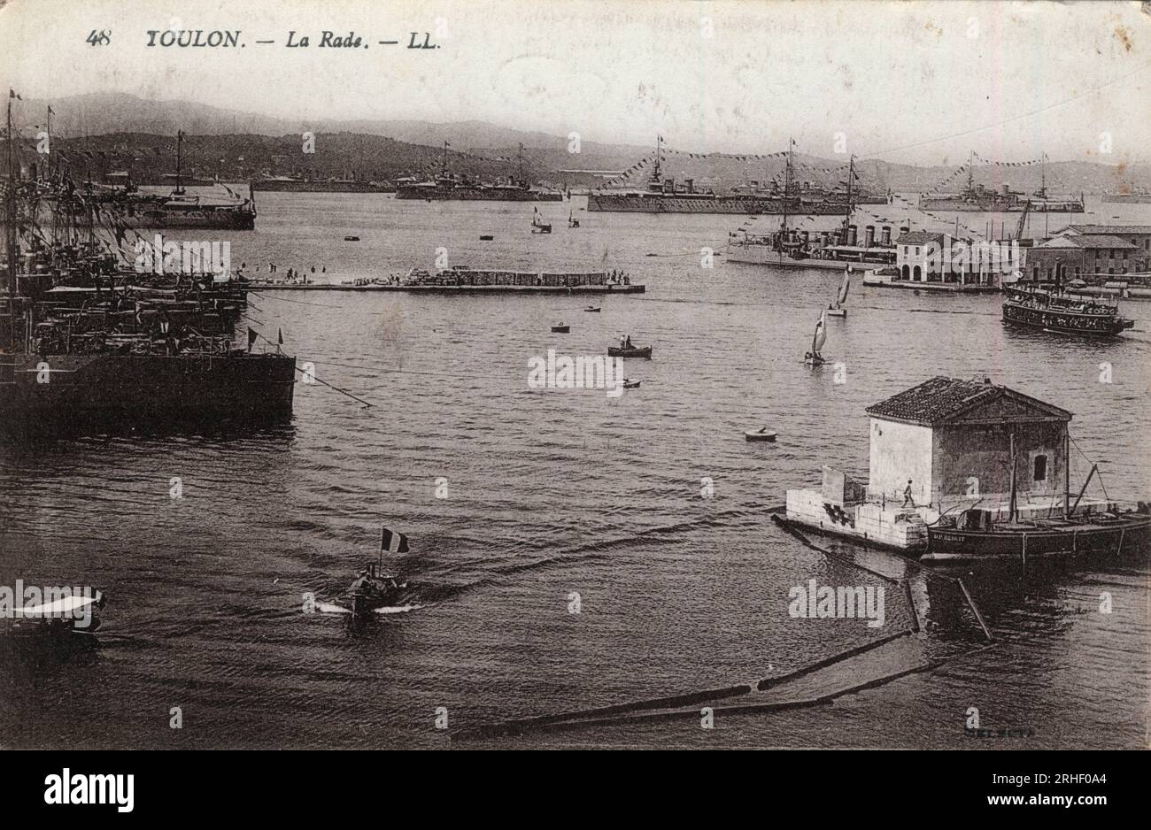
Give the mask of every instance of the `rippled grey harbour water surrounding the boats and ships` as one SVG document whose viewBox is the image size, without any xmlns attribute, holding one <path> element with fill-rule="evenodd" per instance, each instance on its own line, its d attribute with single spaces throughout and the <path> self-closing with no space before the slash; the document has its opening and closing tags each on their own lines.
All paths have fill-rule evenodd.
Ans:
<svg viewBox="0 0 1151 830">
<path fill-rule="evenodd" d="M 838 274 L 722 258 L 701 268 L 700 248 L 722 252 L 741 217 L 585 213 L 577 198 L 582 228 L 566 226 L 567 203 L 542 205 L 556 230 L 533 236 L 531 205 L 258 195 L 259 229 L 224 235 L 249 272 L 275 261 L 281 274 L 314 264 L 318 279 L 381 276 L 430 268 L 444 248 L 450 264 L 623 268 L 648 290 L 604 298 L 601 314 L 584 313 L 578 295 L 257 291 L 252 325 L 282 329 L 285 351 L 369 408 L 298 384 L 282 428 L 0 448 L 0 584 L 110 595 L 99 648 L 2 653 L 0 744 L 445 746 L 440 707 L 452 732 L 754 683 L 904 630 L 891 597 L 878 630 L 792 618 L 791 586 L 874 579 L 783 533 L 768 509 L 787 487 L 817 483 L 823 463 L 866 478 L 864 407 L 933 375 L 989 375 L 1074 412 L 1078 447 L 1106 461 L 1107 492 L 1151 493 L 1151 303 L 1125 303 L 1135 330 L 1090 343 L 1007 330 L 994 297 L 855 286 L 824 347 L 843 363 L 840 384 L 834 366 L 801 362 Z M 1138 205 L 1078 218 L 1112 215 L 1151 221 Z M 550 332 L 561 320 L 571 333 Z M 528 387 L 532 358 L 602 354 L 623 333 L 655 346 L 650 362 L 627 362 L 639 390 Z M 761 425 L 777 444 L 744 440 Z M 1075 464 L 1073 487 L 1090 467 Z M 177 476 L 181 500 L 169 495 Z M 424 607 L 359 632 L 303 614 L 306 592 L 336 600 L 375 555 L 381 523 L 411 536 L 402 566 Z M 1146 745 L 1145 562 L 967 578 L 997 645 L 977 651 L 978 630 L 947 610 L 954 598 L 921 585 L 933 670 L 711 731 L 688 720 L 503 740 Z M 1103 592 L 1111 614 L 1098 610 Z M 966 738 L 973 706 L 984 727 L 1035 735 Z"/>
</svg>

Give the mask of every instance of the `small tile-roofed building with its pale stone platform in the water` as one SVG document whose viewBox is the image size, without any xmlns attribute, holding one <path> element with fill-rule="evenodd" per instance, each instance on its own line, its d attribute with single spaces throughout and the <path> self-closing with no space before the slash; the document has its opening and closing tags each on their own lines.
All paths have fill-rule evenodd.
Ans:
<svg viewBox="0 0 1151 830">
<path fill-rule="evenodd" d="M 787 518 L 900 548 L 978 507 L 991 521 L 1058 515 L 1067 498 L 1067 424 L 1057 406 L 992 384 L 933 377 L 867 408 L 867 484 L 832 467 L 818 490 L 788 490 Z M 1014 486 L 1013 486 L 1014 485 Z"/>
</svg>

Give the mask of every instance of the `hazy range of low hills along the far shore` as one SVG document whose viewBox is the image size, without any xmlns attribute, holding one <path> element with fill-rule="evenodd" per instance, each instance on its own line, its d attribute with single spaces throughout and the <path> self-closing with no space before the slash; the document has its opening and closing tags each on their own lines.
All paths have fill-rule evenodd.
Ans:
<svg viewBox="0 0 1151 830">
<path fill-rule="evenodd" d="M 191 101 L 152 101 L 124 93 L 96 93 L 48 100 L 16 101 L 14 115 L 25 128 L 43 125 L 51 103 L 53 133 L 67 140 L 59 148 L 74 149 L 93 176 L 129 170 L 139 182 L 175 168 L 175 135 L 190 136 L 189 166 L 197 176 L 245 180 L 262 175 L 299 175 L 311 178 L 363 178 L 384 180 L 439 169 L 443 141 L 449 141 L 452 170 L 485 178 L 518 172 L 514 161 L 524 145 L 525 177 L 562 184 L 559 170 L 628 170 L 628 184 L 640 184 L 650 164 L 651 145 L 599 144 L 582 140 L 578 154 L 569 153 L 566 136 L 551 136 L 498 126 L 481 121 L 433 123 L 427 121 L 277 118 Z M 317 137 L 317 153 L 302 152 L 302 133 Z M 764 154 L 782 148 L 764 147 Z M 104 155 L 100 155 L 100 154 Z M 795 155 L 799 180 L 836 185 L 846 179 L 846 160 Z M 79 160 L 77 160 L 79 163 Z M 860 183 L 870 190 L 902 192 L 959 190 L 966 174 L 956 167 L 916 167 L 879 160 L 856 162 Z M 750 180 L 782 176 L 784 160 L 739 154 L 707 156 L 666 149 L 662 172 L 677 179 L 692 178 L 717 191 Z M 1039 186 L 1037 164 L 977 167 L 975 180 L 989 187 L 1007 184 L 1031 192 Z M 1057 193 L 1099 193 L 1122 186 L 1151 187 L 1151 164 L 1122 167 L 1090 162 L 1050 162 L 1047 187 Z M 585 180 L 587 180 L 585 178 Z"/>
</svg>

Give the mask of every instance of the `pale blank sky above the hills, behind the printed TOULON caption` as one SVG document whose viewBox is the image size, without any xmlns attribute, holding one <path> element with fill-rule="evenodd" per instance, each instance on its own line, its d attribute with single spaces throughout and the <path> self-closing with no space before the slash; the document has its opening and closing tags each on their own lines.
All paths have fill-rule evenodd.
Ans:
<svg viewBox="0 0 1151 830">
<path fill-rule="evenodd" d="M 93 29 L 108 43 L 86 43 Z M 239 30 L 245 45 L 147 46 L 168 29 Z M 292 30 L 310 46 L 288 47 Z M 368 48 L 321 48 L 323 30 Z M 411 32 L 440 48 L 405 48 Z M 1151 160 L 1151 10 L 1137 2 L 8 0 L 0 80 L 39 99 L 119 91 L 298 120 L 661 135 L 687 152 L 769 153 L 793 137 L 815 155 L 921 164 L 969 149 Z"/>
</svg>

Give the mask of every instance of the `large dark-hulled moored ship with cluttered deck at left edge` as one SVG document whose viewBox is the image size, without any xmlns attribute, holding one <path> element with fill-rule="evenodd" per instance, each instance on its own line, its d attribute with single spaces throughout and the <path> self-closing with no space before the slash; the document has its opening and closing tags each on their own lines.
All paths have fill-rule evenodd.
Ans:
<svg viewBox="0 0 1151 830">
<path fill-rule="evenodd" d="M 10 102 L 8 125 L 0 428 L 289 416 L 296 359 L 279 344 L 275 353 L 252 353 L 251 329 L 246 348 L 234 343 L 244 284 L 230 275 L 219 283 L 212 274 L 173 278 L 122 266 L 96 222 L 61 222 L 94 216 L 102 209 L 96 198 L 70 182 L 20 178 Z M 38 221 L 45 205 L 49 232 Z"/>
</svg>

